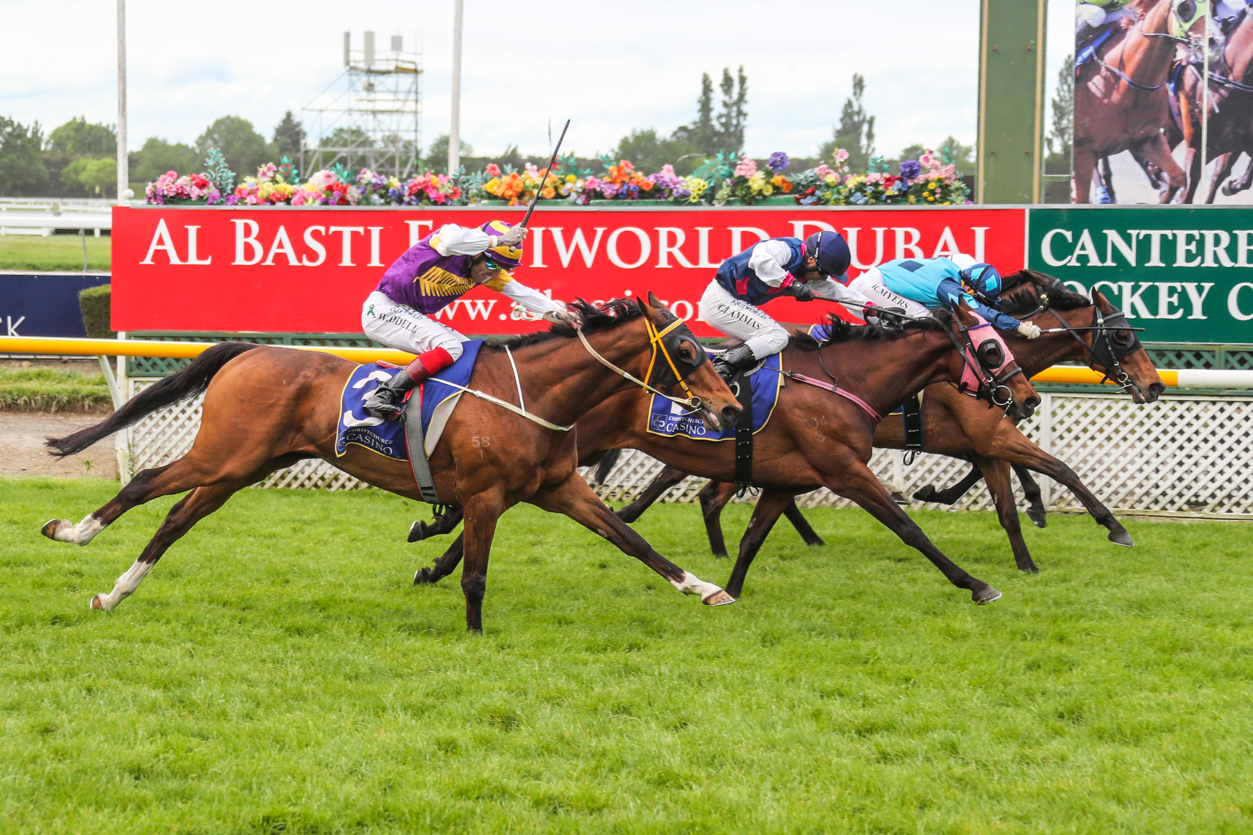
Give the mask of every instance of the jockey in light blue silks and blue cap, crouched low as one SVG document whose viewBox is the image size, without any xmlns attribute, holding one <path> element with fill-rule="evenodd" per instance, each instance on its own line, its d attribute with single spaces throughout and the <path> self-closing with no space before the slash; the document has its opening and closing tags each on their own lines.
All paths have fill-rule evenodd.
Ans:
<svg viewBox="0 0 1253 835">
<path fill-rule="evenodd" d="M 957 299 L 965 299 L 975 313 L 1001 330 L 1016 330 L 1027 339 L 1040 336 L 1034 322 L 1019 322 L 992 307 L 1001 293 L 1001 274 L 991 264 L 975 263 L 970 255 L 890 260 L 871 267 L 848 287 L 911 317 L 930 315 L 931 310 L 949 309 Z"/>
</svg>

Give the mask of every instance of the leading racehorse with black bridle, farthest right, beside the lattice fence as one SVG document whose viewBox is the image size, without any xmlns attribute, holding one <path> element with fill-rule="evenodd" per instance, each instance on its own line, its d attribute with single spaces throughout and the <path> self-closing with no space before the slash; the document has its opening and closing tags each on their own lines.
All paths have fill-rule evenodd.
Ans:
<svg viewBox="0 0 1253 835">
<path fill-rule="evenodd" d="M 1113 378 L 1121 388 L 1130 392 L 1135 403 L 1152 403 L 1165 391 L 1153 361 L 1144 352 L 1135 332 L 1129 329 L 1125 315 L 1099 290 L 1093 294 L 1093 299 L 1088 299 L 1069 290 L 1056 278 L 1035 270 L 1020 270 L 1005 277 L 1005 287 L 1006 290 L 1001 295 L 1002 309 L 1017 319 L 1035 322 L 1045 330 L 1044 336 L 1034 341 L 1006 334 L 1014 358 L 1027 376 L 1037 374 L 1059 362 L 1078 359 Z M 1039 568 L 1022 540 L 1010 483 L 1011 468 L 1024 482 L 1026 498 L 1034 505 L 1027 516 L 1039 527 L 1044 527 L 1045 511 L 1040 501 L 1040 488 L 1027 472 L 1031 469 L 1066 486 L 1093 518 L 1109 530 L 1110 542 L 1134 545 L 1126 528 L 1093 496 L 1070 467 L 1044 452 L 1019 432 L 1012 421 L 1005 419 L 1000 413 L 989 411 L 975 399 L 959 393 L 952 386 L 940 383 L 926 389 L 922 398 L 922 422 L 923 452 L 964 458 L 974 467 L 954 487 L 940 492 L 928 484 L 913 497 L 925 502 L 952 505 L 975 482 L 984 478 L 1001 527 L 1009 536 L 1014 561 L 1021 571 L 1036 572 Z M 580 437 L 580 448 L 584 444 Z M 903 416 L 888 416 L 878 424 L 875 431 L 875 446 L 885 449 L 906 448 Z M 609 454 L 601 461 L 601 467 L 606 461 Z M 605 474 L 598 469 L 596 478 L 604 481 Z M 625 522 L 634 522 L 649 505 L 688 474 L 675 467 L 665 467 L 642 494 L 618 511 L 618 515 Z M 733 483 L 710 482 L 698 493 L 709 545 L 715 556 L 727 556 L 720 513 L 736 489 Z M 817 540 L 821 545 L 821 540 L 804 522 L 794 503 L 786 508 L 786 513 L 807 543 Z M 797 525 L 798 521 L 801 525 Z M 761 532 L 761 537 L 764 538 L 766 533 L 768 531 Z M 756 547 L 759 545 L 761 542 L 757 542 Z M 741 560 L 744 558 L 747 547 L 752 547 L 752 543 L 747 546 L 742 543 Z"/>
</svg>

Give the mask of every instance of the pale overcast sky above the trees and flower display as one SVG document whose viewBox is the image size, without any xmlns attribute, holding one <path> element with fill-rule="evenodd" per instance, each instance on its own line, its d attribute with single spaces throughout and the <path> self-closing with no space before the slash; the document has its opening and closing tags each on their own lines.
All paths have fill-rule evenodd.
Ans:
<svg viewBox="0 0 1253 835">
<path fill-rule="evenodd" d="M 1070 51 L 1071 0 L 1050 0 L 1050 65 Z M 117 121 L 115 4 L 0 0 L 0 115 L 45 129 Z M 193 141 L 239 115 L 269 139 L 341 74 L 342 39 L 421 38 L 424 144 L 449 128 L 452 0 L 128 0 L 129 144 Z M 977 0 L 465 0 L 462 138 L 477 154 L 548 146 L 608 151 L 630 129 L 669 133 L 695 113 L 700 74 L 748 74 L 746 149 L 814 154 L 866 76 L 877 148 L 952 134 L 972 143 Z M 1055 69 L 1050 73 L 1055 75 Z"/>
</svg>

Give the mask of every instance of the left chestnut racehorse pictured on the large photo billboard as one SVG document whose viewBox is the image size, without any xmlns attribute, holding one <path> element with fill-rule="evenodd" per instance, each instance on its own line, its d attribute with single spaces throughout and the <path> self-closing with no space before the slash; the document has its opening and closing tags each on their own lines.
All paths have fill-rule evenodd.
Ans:
<svg viewBox="0 0 1253 835">
<path fill-rule="evenodd" d="M 1194 0 L 1183 0 L 1194 3 Z M 1170 156 L 1162 135 L 1170 116 L 1165 90 L 1175 44 L 1170 34 L 1174 0 L 1144 0 L 1144 16 L 1111 36 L 1093 60 L 1081 64 L 1075 79 L 1075 203 L 1089 203 L 1096 161 L 1124 150 L 1162 169 L 1169 188 L 1160 202 L 1169 203 L 1185 185 L 1183 169 Z M 1204 25 L 1194 21 L 1188 34 Z M 1187 43 L 1187 41 L 1185 41 Z"/>
</svg>

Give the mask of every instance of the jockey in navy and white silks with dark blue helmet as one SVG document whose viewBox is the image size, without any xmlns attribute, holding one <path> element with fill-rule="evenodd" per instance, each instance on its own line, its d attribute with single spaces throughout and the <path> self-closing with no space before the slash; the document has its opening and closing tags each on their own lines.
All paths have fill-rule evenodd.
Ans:
<svg viewBox="0 0 1253 835">
<path fill-rule="evenodd" d="M 761 240 L 718 268 L 700 298 L 700 318 L 744 344 L 723 352 L 713 363 L 730 379 L 736 372 L 787 347 L 788 333 L 761 310 L 781 297 L 798 302 L 823 298 L 867 309 L 875 302 L 840 282 L 847 280 L 848 244 L 838 232 Z M 832 278 L 837 280 L 832 280 Z"/>
</svg>

